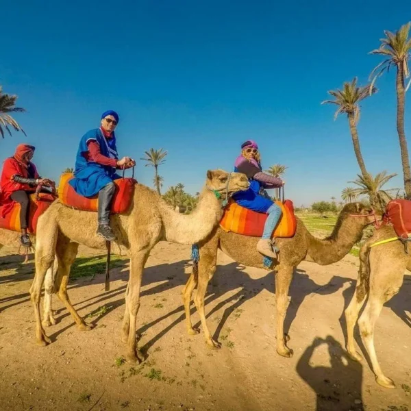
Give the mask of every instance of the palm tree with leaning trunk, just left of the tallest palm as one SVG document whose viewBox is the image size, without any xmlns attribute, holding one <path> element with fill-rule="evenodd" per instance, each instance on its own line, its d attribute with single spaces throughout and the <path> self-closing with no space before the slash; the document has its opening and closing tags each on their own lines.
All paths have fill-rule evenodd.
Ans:
<svg viewBox="0 0 411 411">
<path fill-rule="evenodd" d="M 353 140 L 354 153 L 356 153 L 357 162 L 364 177 L 368 172 L 366 171 L 364 159 L 362 158 L 360 140 L 358 140 L 357 124 L 360 120 L 360 105 L 358 105 L 358 103 L 375 92 L 377 92 L 377 89 L 372 85 L 358 87 L 357 77 L 354 77 L 351 83 L 344 83 L 342 90 L 337 89 L 328 91 L 328 94 L 332 95 L 334 100 L 325 100 L 321 103 L 338 105 L 338 109 L 334 114 L 334 120 L 338 117 L 338 114 L 347 114 L 349 130 Z"/>
</svg>

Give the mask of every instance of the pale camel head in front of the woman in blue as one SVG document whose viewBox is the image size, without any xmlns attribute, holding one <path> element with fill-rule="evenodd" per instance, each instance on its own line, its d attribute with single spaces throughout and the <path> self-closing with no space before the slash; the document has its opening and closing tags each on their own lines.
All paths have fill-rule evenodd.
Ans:
<svg viewBox="0 0 411 411">
<path fill-rule="evenodd" d="M 225 201 L 237 191 L 244 191 L 250 184 L 245 174 L 227 173 L 223 170 L 208 170 L 206 187 Z"/>
</svg>

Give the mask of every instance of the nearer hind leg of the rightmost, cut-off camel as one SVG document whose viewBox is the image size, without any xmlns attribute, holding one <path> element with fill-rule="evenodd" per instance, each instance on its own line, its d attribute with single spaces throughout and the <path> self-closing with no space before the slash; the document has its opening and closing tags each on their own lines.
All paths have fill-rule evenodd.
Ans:
<svg viewBox="0 0 411 411">
<path fill-rule="evenodd" d="M 389 281 L 395 281 L 395 279 L 390 278 Z M 401 282 L 402 282 L 402 273 L 401 273 Z M 385 284 L 384 284 L 385 285 Z M 369 355 L 371 360 L 371 364 L 373 366 L 373 371 L 375 374 L 375 380 L 380 386 L 385 388 L 395 388 L 395 384 L 392 379 L 386 377 L 382 372 L 381 367 L 379 366 L 379 362 L 377 360 L 377 354 L 375 353 L 374 347 L 374 328 L 375 323 L 379 317 L 379 314 L 382 310 L 382 306 L 386 301 L 391 299 L 397 292 L 399 291 L 399 285 L 395 284 L 386 284 L 387 286 L 380 288 L 381 285 L 378 284 L 379 289 L 373 290 L 371 287 L 370 289 L 370 296 L 369 301 L 366 303 L 366 307 L 364 312 L 360 316 L 358 320 L 358 325 L 360 327 L 360 334 L 362 338 L 362 342 L 366 348 L 366 351 Z"/>
</svg>

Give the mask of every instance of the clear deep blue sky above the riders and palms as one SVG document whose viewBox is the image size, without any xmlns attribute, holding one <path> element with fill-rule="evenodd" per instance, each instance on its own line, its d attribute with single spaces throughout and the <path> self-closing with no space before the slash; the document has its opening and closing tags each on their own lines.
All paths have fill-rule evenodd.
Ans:
<svg viewBox="0 0 411 411">
<path fill-rule="evenodd" d="M 10 1 L 2 8 L 0 84 L 18 95 L 21 133 L 0 140 L 0 161 L 36 145 L 40 173 L 74 166 L 79 138 L 116 110 L 121 155 L 169 151 L 164 188 L 203 185 L 208 169 L 232 170 L 242 141 L 257 140 L 264 167 L 288 166 L 296 206 L 340 197 L 356 177 L 347 119 L 320 105 L 327 90 L 380 60 L 367 53 L 411 6 L 376 1 Z M 395 75 L 379 80 L 358 125 L 371 173 L 398 173 Z M 410 104 L 406 133 L 411 138 Z M 153 169 L 136 176 L 152 186 Z"/>
</svg>

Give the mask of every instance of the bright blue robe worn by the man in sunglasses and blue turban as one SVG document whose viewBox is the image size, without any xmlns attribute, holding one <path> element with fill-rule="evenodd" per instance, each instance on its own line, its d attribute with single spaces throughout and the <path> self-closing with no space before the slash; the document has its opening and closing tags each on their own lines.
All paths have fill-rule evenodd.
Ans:
<svg viewBox="0 0 411 411">
<path fill-rule="evenodd" d="M 69 184 L 77 194 L 84 197 L 93 197 L 98 194 L 101 188 L 107 186 L 114 179 L 121 178 L 116 174 L 116 169 L 110 166 L 103 166 L 93 161 L 87 161 L 84 153 L 87 153 L 87 143 L 91 140 L 96 141 L 100 146 L 100 152 L 106 157 L 119 159 L 116 149 L 116 137 L 106 139 L 101 129 L 93 129 L 84 134 L 79 143 L 75 160 L 74 177 Z"/>
</svg>

